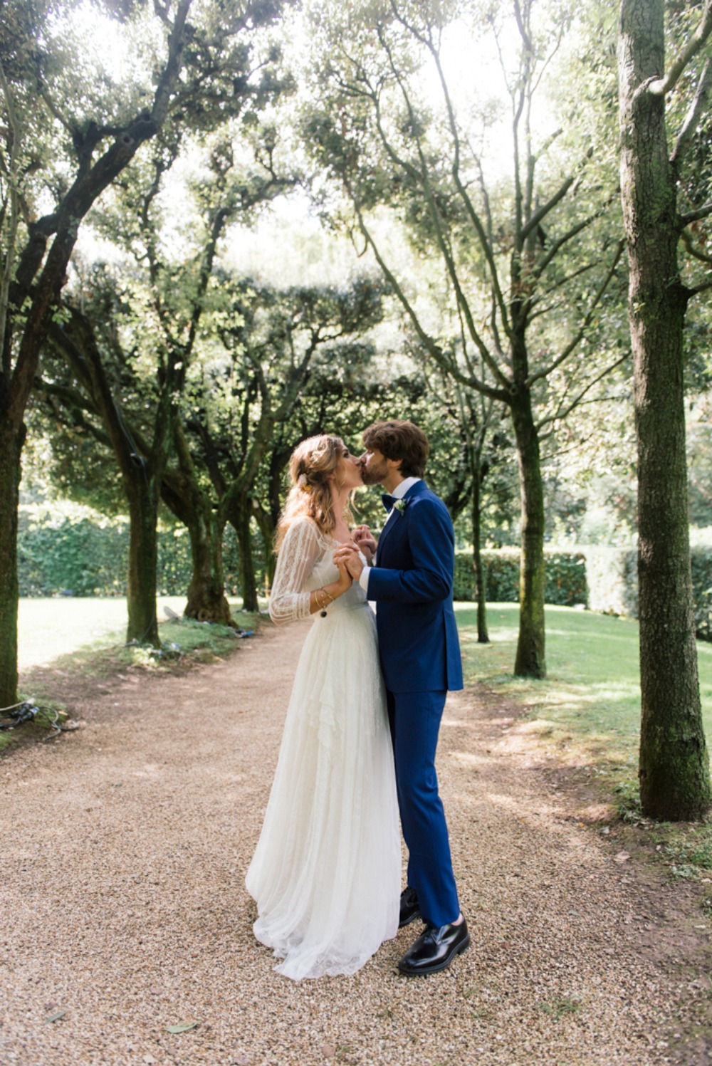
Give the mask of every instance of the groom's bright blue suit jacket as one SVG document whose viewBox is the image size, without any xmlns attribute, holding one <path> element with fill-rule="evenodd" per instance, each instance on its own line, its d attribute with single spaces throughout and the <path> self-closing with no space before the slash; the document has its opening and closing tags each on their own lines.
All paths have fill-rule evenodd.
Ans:
<svg viewBox="0 0 712 1066">
<path fill-rule="evenodd" d="M 452 582 L 455 536 L 442 500 L 424 481 L 384 527 L 369 575 L 381 665 L 390 692 L 463 688 Z"/>
</svg>

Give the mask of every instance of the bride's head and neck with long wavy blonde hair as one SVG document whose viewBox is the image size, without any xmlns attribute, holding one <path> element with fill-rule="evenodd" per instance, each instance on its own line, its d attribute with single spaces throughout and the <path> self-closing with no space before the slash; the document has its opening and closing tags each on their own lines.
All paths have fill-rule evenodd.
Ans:
<svg viewBox="0 0 712 1066">
<path fill-rule="evenodd" d="M 311 518 L 327 536 L 334 531 L 336 515 L 329 474 L 337 477 L 338 485 L 338 472 L 343 464 L 344 449 L 345 445 L 341 437 L 329 437 L 327 434 L 308 437 L 296 446 L 289 461 L 292 487 L 277 522 L 275 551 L 279 551 L 285 534 L 294 519 L 303 515 Z M 351 510 L 347 505 L 344 515 L 349 521 Z"/>
</svg>

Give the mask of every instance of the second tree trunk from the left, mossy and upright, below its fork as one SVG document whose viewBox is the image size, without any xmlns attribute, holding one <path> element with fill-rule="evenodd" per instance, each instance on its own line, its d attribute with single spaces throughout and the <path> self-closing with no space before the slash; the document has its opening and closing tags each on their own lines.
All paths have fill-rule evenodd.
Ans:
<svg viewBox="0 0 712 1066">
<path fill-rule="evenodd" d="M 124 479 L 127 484 L 127 479 Z M 151 644 L 160 648 L 156 614 L 156 568 L 158 564 L 158 490 L 156 480 L 136 471 L 133 484 L 127 485 L 131 529 L 127 599 L 129 623 L 127 644 Z"/>
</svg>

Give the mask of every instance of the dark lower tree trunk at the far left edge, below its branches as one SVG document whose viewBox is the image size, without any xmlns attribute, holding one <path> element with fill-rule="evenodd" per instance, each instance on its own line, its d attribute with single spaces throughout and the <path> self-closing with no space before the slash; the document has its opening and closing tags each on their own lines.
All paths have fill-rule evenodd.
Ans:
<svg viewBox="0 0 712 1066">
<path fill-rule="evenodd" d="M 17 702 L 17 507 L 25 425 L 0 429 L 0 707 Z"/>
</svg>

